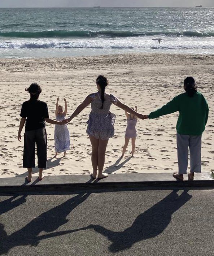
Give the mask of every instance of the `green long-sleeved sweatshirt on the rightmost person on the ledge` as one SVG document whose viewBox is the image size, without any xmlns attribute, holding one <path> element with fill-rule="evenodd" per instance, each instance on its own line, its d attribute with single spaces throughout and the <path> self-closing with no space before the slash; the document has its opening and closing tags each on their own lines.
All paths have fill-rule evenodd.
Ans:
<svg viewBox="0 0 214 256">
<path fill-rule="evenodd" d="M 179 111 L 176 130 L 179 134 L 201 135 L 208 120 L 209 108 L 205 97 L 196 92 L 193 97 L 180 94 L 162 108 L 151 112 L 149 119 Z"/>
</svg>

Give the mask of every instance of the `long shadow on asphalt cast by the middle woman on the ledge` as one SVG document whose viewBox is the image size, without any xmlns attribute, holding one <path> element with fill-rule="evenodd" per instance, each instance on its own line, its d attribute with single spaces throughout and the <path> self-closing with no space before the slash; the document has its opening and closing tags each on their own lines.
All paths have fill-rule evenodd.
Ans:
<svg viewBox="0 0 214 256">
<path fill-rule="evenodd" d="M 4 253 L 8 253 L 10 249 L 16 246 L 37 246 L 40 240 L 55 237 L 66 233 L 72 233 L 74 231 L 61 231 L 57 233 L 50 233 L 47 235 L 39 234 L 44 232 L 53 232 L 58 229 L 58 227 L 66 224 L 69 220 L 66 219 L 66 216 L 79 204 L 81 204 L 84 200 L 88 198 L 91 193 L 80 193 L 73 198 L 65 201 L 64 203 L 50 209 L 47 212 L 40 214 L 40 216 L 33 219 L 22 229 L 8 235 L 4 230 L 4 225 L 0 224 L 0 238 L 1 238 L 1 247 L 0 247 L 0 255 Z M 5 202 L 5 201 L 4 201 Z M 10 200 L 8 200 L 8 204 L 10 205 Z M 9 209 L 12 207 L 7 206 Z M 18 206 L 18 205 L 17 205 Z M 83 228 L 86 229 L 86 228 Z"/>
</svg>

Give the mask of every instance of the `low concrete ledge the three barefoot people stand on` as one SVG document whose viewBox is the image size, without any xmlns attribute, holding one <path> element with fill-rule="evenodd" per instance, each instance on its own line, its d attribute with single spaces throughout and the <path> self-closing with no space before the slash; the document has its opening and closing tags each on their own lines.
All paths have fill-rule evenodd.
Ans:
<svg viewBox="0 0 214 256">
<path fill-rule="evenodd" d="M 176 181 L 172 173 L 110 174 L 105 179 L 92 179 L 90 175 L 46 176 L 42 181 L 33 177 L 27 182 L 23 177 L 0 178 L 0 193 L 51 192 L 119 188 L 163 188 L 163 187 L 214 187 L 209 172 L 195 174 L 195 180 Z"/>
</svg>

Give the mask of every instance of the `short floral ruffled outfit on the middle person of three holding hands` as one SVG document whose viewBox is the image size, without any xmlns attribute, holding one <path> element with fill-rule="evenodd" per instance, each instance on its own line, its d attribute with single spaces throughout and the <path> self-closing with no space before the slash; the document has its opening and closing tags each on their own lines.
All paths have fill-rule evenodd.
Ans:
<svg viewBox="0 0 214 256">
<path fill-rule="evenodd" d="M 112 103 L 117 104 L 117 98 L 110 94 L 108 100 L 104 101 L 103 109 L 101 109 L 102 101 L 98 93 L 91 95 L 91 113 L 87 121 L 87 134 L 94 136 L 96 139 L 108 140 L 114 136 L 115 114 L 109 110 Z"/>
</svg>

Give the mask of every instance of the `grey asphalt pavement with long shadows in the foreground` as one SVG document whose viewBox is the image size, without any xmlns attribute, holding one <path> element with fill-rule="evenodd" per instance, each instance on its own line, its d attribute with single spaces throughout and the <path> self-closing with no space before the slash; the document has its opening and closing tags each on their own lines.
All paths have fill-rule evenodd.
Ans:
<svg viewBox="0 0 214 256">
<path fill-rule="evenodd" d="M 214 190 L 0 196 L 0 255 L 212 256 Z"/>
</svg>

